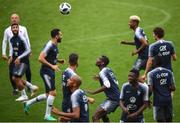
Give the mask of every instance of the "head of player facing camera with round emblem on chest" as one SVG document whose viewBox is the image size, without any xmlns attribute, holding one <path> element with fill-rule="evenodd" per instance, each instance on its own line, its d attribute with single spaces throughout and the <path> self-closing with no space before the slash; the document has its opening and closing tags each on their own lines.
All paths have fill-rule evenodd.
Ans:
<svg viewBox="0 0 180 123">
<path fill-rule="evenodd" d="M 128 81 L 130 83 L 134 83 L 138 81 L 138 78 L 139 78 L 139 71 L 136 69 L 130 70 L 129 75 L 128 75 Z"/>
</svg>

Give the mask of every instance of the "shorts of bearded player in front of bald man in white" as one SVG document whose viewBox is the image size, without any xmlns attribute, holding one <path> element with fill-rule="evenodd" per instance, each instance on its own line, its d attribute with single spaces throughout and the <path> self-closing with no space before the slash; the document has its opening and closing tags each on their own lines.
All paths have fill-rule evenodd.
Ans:
<svg viewBox="0 0 180 123">
<path fill-rule="evenodd" d="M 27 69 L 25 63 L 20 63 L 19 65 L 13 65 L 12 74 L 15 77 L 22 77 Z"/>
</svg>

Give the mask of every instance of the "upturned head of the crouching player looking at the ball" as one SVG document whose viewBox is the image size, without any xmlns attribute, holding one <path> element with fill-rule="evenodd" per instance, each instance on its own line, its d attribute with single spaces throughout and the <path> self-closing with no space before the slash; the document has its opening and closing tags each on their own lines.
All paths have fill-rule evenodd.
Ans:
<svg viewBox="0 0 180 123">
<path fill-rule="evenodd" d="M 107 56 L 100 56 L 96 59 L 96 66 L 98 67 L 106 67 L 109 64 L 109 58 Z"/>
</svg>

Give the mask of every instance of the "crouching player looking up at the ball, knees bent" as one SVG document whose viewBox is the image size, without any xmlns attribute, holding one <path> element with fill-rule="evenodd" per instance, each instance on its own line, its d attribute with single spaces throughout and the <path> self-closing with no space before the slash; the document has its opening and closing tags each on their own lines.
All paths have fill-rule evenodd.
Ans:
<svg viewBox="0 0 180 123">
<path fill-rule="evenodd" d="M 103 122 L 110 122 L 107 114 L 114 112 L 119 105 L 119 87 L 118 81 L 113 73 L 113 71 L 107 67 L 109 64 L 109 58 L 102 55 L 97 58 L 96 66 L 99 67 L 100 72 L 98 75 L 101 87 L 96 91 L 87 92 L 90 94 L 98 94 L 104 92 L 107 99 L 97 108 L 95 114 L 92 117 L 93 122 L 99 122 L 102 118 Z"/>
</svg>

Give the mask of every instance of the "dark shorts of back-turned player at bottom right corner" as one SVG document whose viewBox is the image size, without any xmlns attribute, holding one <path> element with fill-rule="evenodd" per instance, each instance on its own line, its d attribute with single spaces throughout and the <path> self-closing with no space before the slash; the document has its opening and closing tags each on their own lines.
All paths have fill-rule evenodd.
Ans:
<svg viewBox="0 0 180 123">
<path fill-rule="evenodd" d="M 154 119 L 156 121 L 171 122 L 173 116 L 172 105 L 154 106 Z"/>
</svg>

